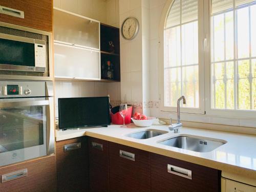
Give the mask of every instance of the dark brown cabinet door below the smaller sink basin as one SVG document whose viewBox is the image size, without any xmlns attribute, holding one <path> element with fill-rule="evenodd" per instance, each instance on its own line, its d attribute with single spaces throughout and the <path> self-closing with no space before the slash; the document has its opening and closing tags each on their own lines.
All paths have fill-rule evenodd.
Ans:
<svg viewBox="0 0 256 192">
<path fill-rule="evenodd" d="M 148 192 L 150 153 L 110 142 L 110 191 Z"/>
</svg>

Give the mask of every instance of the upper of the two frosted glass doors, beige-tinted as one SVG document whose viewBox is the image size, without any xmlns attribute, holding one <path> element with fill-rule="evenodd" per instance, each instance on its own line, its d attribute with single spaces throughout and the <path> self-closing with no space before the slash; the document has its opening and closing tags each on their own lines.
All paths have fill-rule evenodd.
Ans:
<svg viewBox="0 0 256 192">
<path fill-rule="evenodd" d="M 53 10 L 54 41 L 99 50 L 99 22 Z"/>
</svg>

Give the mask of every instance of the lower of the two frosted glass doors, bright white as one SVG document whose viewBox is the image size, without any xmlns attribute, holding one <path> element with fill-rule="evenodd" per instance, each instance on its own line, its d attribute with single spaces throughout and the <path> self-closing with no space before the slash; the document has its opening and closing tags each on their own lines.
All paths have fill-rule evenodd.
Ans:
<svg viewBox="0 0 256 192">
<path fill-rule="evenodd" d="M 99 61 L 99 51 L 54 43 L 56 78 L 100 79 Z"/>
</svg>

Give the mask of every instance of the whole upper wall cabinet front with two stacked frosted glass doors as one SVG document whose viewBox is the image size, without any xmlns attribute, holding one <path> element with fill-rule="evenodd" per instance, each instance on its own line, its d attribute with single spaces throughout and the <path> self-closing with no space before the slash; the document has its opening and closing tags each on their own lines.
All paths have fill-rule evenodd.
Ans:
<svg viewBox="0 0 256 192">
<path fill-rule="evenodd" d="M 100 79 L 100 23 L 54 8 L 55 78 Z"/>
</svg>

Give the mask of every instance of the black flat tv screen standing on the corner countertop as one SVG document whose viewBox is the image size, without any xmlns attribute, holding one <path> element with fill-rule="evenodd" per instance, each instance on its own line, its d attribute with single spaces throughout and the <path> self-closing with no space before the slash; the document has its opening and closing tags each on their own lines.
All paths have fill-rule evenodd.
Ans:
<svg viewBox="0 0 256 192">
<path fill-rule="evenodd" d="M 59 129 L 110 125 L 109 97 L 58 99 Z"/>
</svg>

